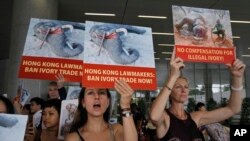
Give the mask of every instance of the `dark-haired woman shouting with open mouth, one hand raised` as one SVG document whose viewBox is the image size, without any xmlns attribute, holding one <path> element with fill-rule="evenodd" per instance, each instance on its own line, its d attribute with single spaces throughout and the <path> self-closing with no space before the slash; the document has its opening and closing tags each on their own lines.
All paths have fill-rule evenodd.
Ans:
<svg viewBox="0 0 250 141">
<path fill-rule="evenodd" d="M 117 80 L 114 88 L 121 95 L 121 124 L 109 124 L 111 95 L 104 88 L 82 88 L 77 114 L 65 141 L 137 141 L 137 132 L 131 116 L 130 102 L 134 90 Z"/>
</svg>

